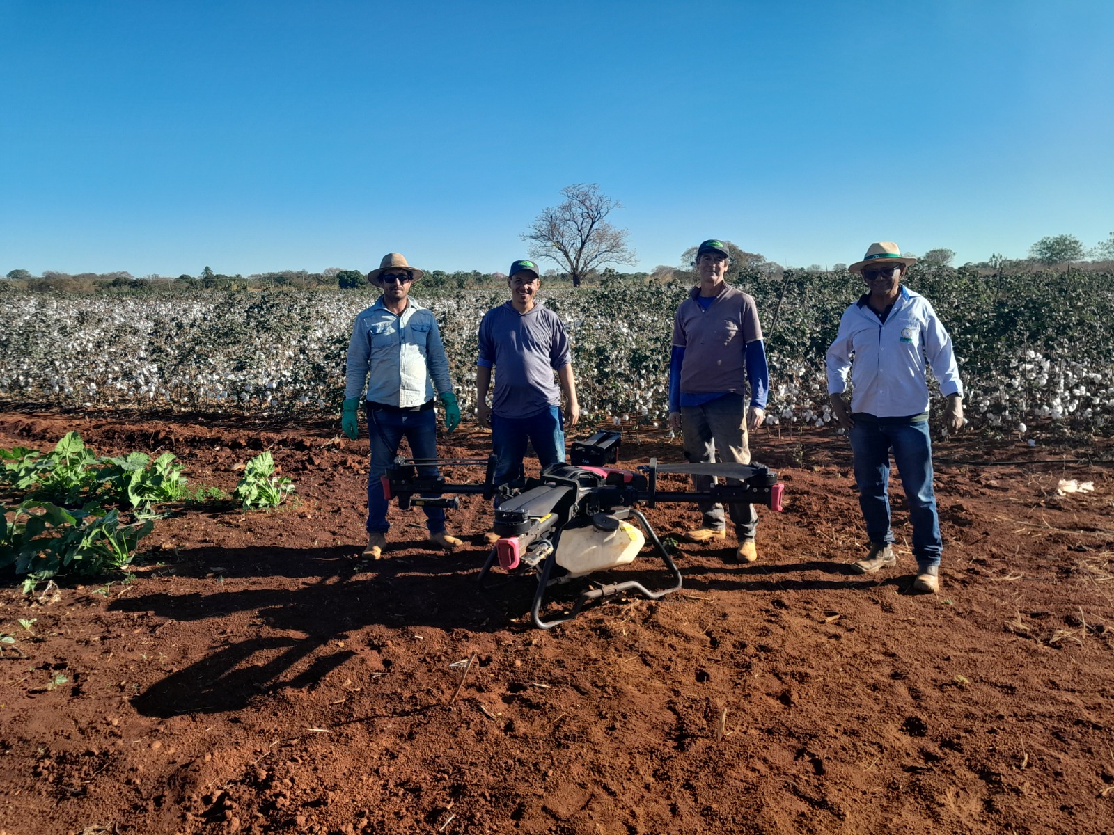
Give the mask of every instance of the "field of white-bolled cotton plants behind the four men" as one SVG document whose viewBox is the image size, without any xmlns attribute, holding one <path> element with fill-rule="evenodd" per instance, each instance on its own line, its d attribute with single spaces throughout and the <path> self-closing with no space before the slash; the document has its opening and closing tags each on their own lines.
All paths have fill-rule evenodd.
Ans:
<svg viewBox="0 0 1114 835">
<path fill-rule="evenodd" d="M 912 275 L 948 326 L 975 424 L 1114 416 L 1111 278 Z M 824 350 L 859 293 L 847 274 L 741 282 L 759 304 L 771 366 L 766 423 L 831 422 Z M 664 425 L 673 311 L 684 287 L 549 291 L 574 345 L 582 410 Z M 477 328 L 501 288 L 412 295 L 434 311 L 461 409 L 475 409 Z M 59 406 L 339 411 L 352 321 L 370 291 L 50 296 L 6 293 L 0 399 Z"/>
</svg>

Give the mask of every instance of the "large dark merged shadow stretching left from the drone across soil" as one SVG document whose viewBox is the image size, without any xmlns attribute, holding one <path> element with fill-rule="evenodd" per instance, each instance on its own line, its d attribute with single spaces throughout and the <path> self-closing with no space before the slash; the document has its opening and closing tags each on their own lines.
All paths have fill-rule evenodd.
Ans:
<svg viewBox="0 0 1114 835">
<path fill-rule="evenodd" d="M 257 557 L 255 552 L 266 549 L 244 550 Z M 243 553 L 226 551 L 225 556 L 229 564 L 245 562 Z M 320 559 L 324 558 L 319 554 Z M 321 572 L 312 580 L 276 574 L 270 586 L 265 579 L 254 579 L 256 572 L 251 571 L 246 582 L 252 586 L 243 588 L 244 580 L 236 578 L 241 579 L 236 589 L 218 584 L 219 577 L 234 578 L 229 571 L 209 578 L 212 591 L 193 590 L 196 582 L 190 582 L 190 590 L 180 593 L 157 591 L 114 600 L 109 610 L 149 612 L 163 618 L 164 625 L 224 621 L 223 639 L 231 641 L 156 681 L 133 704 L 139 713 L 158 717 L 242 710 L 260 696 L 314 686 L 355 655 L 343 645 L 368 627 L 472 632 L 529 628 L 526 616 L 537 590 L 536 578 L 507 578 L 499 587 L 485 590 L 477 582 L 481 562 L 475 554 L 466 559 L 458 553 L 450 559 L 400 557 L 358 562 Z M 651 588 L 655 583 L 661 587 L 666 574 L 653 564 L 614 573 L 622 573 L 622 579 L 637 578 Z M 547 608 L 567 609 L 585 584 L 605 578 L 617 579 L 612 572 L 600 572 L 555 589 L 547 595 Z M 250 616 L 250 622 L 245 625 L 245 618 L 237 615 Z M 235 631 L 252 635 L 236 640 L 231 637 Z"/>
</svg>

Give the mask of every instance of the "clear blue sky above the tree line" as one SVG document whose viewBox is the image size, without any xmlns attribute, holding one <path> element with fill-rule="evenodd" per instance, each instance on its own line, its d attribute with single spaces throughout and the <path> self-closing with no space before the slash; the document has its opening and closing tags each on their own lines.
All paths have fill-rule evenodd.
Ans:
<svg viewBox="0 0 1114 835">
<path fill-rule="evenodd" d="M 646 271 L 1091 246 L 1112 31 L 1108 0 L 0 0 L 0 273 L 505 271 L 575 183 Z"/>
</svg>

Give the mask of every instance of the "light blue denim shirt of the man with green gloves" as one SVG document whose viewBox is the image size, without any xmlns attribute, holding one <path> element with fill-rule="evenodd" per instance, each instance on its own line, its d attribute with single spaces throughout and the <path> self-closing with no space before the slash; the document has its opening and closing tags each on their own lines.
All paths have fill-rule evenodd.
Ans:
<svg viewBox="0 0 1114 835">
<path fill-rule="evenodd" d="M 401 315 L 395 315 L 380 296 L 355 317 L 344 375 L 345 400 L 359 396 L 364 383 L 369 401 L 403 409 L 432 400 L 434 386 L 438 394 L 452 391 L 437 317 L 413 298 L 407 302 Z"/>
</svg>

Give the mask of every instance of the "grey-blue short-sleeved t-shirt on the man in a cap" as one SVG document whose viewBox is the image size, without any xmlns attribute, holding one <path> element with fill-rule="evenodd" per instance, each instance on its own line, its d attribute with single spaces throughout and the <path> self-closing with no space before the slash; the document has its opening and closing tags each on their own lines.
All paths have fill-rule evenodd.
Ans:
<svg viewBox="0 0 1114 835">
<path fill-rule="evenodd" d="M 554 377 L 571 362 L 568 334 L 560 317 L 536 303 L 519 313 L 510 302 L 480 321 L 478 365 L 495 367 L 491 411 L 500 418 L 530 418 L 560 405 Z"/>
</svg>

